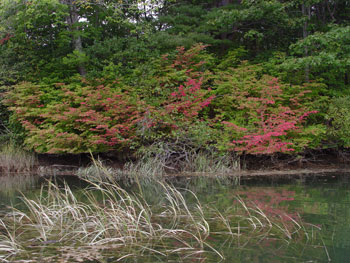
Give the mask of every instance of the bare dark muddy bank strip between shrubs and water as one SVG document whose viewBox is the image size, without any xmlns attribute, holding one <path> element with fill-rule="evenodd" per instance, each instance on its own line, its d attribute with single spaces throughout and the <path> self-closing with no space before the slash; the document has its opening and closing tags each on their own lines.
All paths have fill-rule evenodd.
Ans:
<svg viewBox="0 0 350 263">
<path fill-rule="evenodd" d="M 165 170 L 160 177 L 180 178 L 180 177 L 231 177 L 241 179 L 253 178 L 281 178 L 292 179 L 300 177 L 323 177 L 331 175 L 346 175 L 350 178 L 350 153 L 342 152 L 318 152 L 311 155 L 304 155 L 303 158 L 297 159 L 292 155 L 274 155 L 274 156 L 245 156 L 241 167 L 243 169 L 231 170 L 223 173 L 213 172 L 186 172 L 176 170 Z M 110 169 L 112 173 L 121 172 L 128 161 L 119 158 L 113 158 L 108 155 L 97 155 L 93 158 L 102 158 L 103 166 Z M 137 161 L 137 160 L 134 160 Z M 0 166 L 0 176 L 9 174 L 32 174 L 41 177 L 51 176 L 78 176 L 81 169 L 88 168 L 94 164 L 91 155 L 37 155 L 35 166 L 29 171 L 16 172 Z M 127 170 L 124 170 L 127 172 Z M 155 174 L 157 176 L 157 174 Z"/>
</svg>

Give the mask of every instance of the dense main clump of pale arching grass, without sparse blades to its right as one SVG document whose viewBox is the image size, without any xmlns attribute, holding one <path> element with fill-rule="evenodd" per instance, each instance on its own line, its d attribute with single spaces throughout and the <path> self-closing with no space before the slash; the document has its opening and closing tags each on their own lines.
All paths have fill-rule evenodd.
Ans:
<svg viewBox="0 0 350 263">
<path fill-rule="evenodd" d="M 150 254 L 192 257 L 206 248 L 222 257 L 205 241 L 209 229 L 201 207 L 190 211 L 180 192 L 165 184 L 161 187 L 167 205 L 154 213 L 141 196 L 129 194 L 117 184 L 91 182 L 81 193 L 84 201 L 78 201 L 67 185 L 59 189 L 49 183 L 47 192 L 42 191 L 37 200 L 23 198 L 28 211 L 13 210 L 4 219 L 2 259 L 18 254 L 18 247 L 29 241 L 33 248 L 59 244 L 58 250 L 78 244 L 87 249 L 87 257 L 91 256 L 89 249 L 99 248 L 101 253 L 118 250 L 119 260 Z M 70 259 L 78 260 L 74 253 Z"/>
</svg>

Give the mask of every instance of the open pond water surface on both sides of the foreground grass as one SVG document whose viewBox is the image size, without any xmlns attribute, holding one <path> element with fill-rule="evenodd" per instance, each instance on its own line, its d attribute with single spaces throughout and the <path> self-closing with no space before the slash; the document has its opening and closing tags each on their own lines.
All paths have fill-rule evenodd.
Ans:
<svg viewBox="0 0 350 263">
<path fill-rule="evenodd" d="M 349 176 L 350 177 L 350 176 Z M 67 182 L 76 190 L 86 187 L 86 183 L 71 177 Z M 60 181 L 60 180 L 59 180 Z M 9 205 L 21 207 L 21 193 L 35 197 L 40 185 L 46 179 L 33 176 L 0 177 L 0 209 L 6 211 Z M 264 212 L 269 218 L 279 218 L 288 224 L 293 220 L 311 226 L 308 230 L 310 242 L 300 246 L 287 241 L 264 240 L 246 241 L 246 244 L 230 244 L 237 240 L 227 240 L 213 236 L 209 241 L 225 256 L 222 262 L 350 262 L 350 179 L 346 176 L 309 177 L 304 179 L 241 180 L 239 186 L 229 179 L 181 178 L 172 181 L 179 189 L 193 191 L 201 204 L 227 211 L 237 197 Z M 146 199 L 158 202 L 155 189 L 147 186 L 143 191 Z M 132 189 L 132 188 L 131 188 Z M 194 197 L 183 191 L 188 202 Z M 311 229 L 311 231 L 310 231 Z M 312 230 L 314 229 L 314 231 Z M 237 245 L 239 249 L 237 249 Z M 89 261 L 94 262 L 94 261 Z M 100 261 L 96 261 L 100 262 Z M 106 260 L 101 262 L 114 262 Z M 138 262 L 123 261 L 123 262 Z M 141 261 L 140 261 L 141 262 Z M 142 262 L 144 262 L 142 260 Z M 174 262 L 153 261 L 147 262 Z M 194 261 L 183 261 L 194 262 Z M 202 262 L 219 262 L 208 258 Z"/>
</svg>

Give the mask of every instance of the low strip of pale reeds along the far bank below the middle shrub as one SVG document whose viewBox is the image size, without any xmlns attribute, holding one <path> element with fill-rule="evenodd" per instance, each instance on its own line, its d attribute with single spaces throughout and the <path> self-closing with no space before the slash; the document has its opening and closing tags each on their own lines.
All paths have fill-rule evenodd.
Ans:
<svg viewBox="0 0 350 263">
<path fill-rule="evenodd" d="M 182 162 L 176 169 L 162 160 L 161 156 L 144 156 L 135 162 L 128 162 L 123 169 L 108 167 L 100 159 L 92 157 L 92 164 L 79 168 L 77 175 L 91 181 L 121 181 L 135 182 L 159 180 L 167 175 L 198 173 L 212 175 L 215 178 L 227 178 L 239 170 L 239 160 L 230 156 L 214 156 L 209 153 L 188 154 L 188 160 Z M 236 182 L 239 177 L 234 178 Z"/>
</svg>

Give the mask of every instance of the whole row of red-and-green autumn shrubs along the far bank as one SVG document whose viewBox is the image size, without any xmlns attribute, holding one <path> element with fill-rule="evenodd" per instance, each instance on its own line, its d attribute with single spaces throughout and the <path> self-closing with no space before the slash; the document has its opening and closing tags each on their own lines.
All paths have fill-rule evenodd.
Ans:
<svg viewBox="0 0 350 263">
<path fill-rule="evenodd" d="M 137 150 L 179 142 L 189 143 L 186 149 L 195 154 L 206 145 L 214 152 L 240 154 L 319 147 L 325 127 L 309 117 L 318 112 L 315 99 L 325 99 L 322 85 L 281 83 L 264 75 L 260 65 L 245 62 L 228 69 L 219 65 L 214 75 L 205 47 L 180 47 L 153 61 L 155 69 L 138 76 L 139 87 L 111 79 L 22 83 L 5 103 L 26 129 L 27 147 L 42 153 Z M 210 136 L 196 144 L 203 141 L 193 132 L 200 126 Z"/>
</svg>

